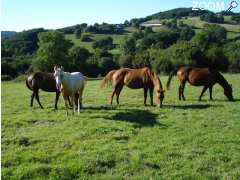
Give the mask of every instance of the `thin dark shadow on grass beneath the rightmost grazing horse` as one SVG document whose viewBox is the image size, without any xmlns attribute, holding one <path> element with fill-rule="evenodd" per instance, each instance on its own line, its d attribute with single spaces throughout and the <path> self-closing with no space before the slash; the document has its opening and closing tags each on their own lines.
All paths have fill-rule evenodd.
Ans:
<svg viewBox="0 0 240 180">
<path fill-rule="evenodd" d="M 164 105 L 164 108 L 174 109 L 207 109 L 210 107 L 222 107 L 223 105 L 212 105 L 212 104 L 188 104 L 188 105 Z"/>
</svg>

